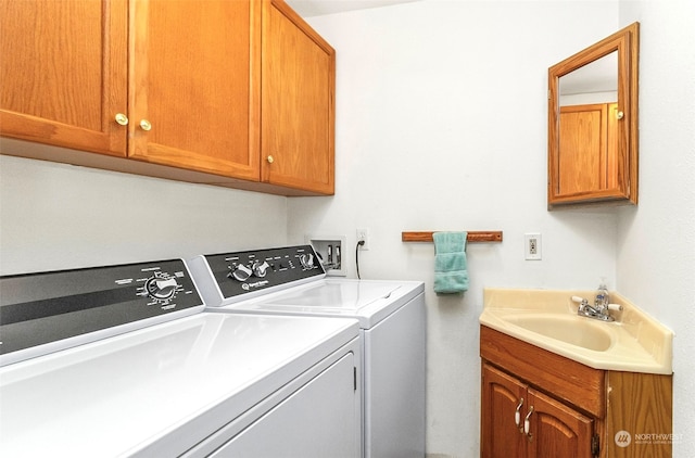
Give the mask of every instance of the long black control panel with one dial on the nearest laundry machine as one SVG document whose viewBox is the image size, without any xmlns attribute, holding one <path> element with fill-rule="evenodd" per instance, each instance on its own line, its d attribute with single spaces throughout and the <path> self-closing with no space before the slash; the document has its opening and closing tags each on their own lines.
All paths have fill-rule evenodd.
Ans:
<svg viewBox="0 0 695 458">
<path fill-rule="evenodd" d="M 204 308 L 181 259 L 0 277 L 0 290 L 2 356 L 86 334 L 103 339 L 124 325 L 135 330 Z"/>
</svg>

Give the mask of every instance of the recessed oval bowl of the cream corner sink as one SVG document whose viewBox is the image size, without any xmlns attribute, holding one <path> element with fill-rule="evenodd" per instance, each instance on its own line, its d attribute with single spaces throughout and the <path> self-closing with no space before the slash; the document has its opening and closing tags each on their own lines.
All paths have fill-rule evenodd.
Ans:
<svg viewBox="0 0 695 458">
<path fill-rule="evenodd" d="M 594 323 L 589 318 L 539 314 L 511 315 L 506 319 L 528 331 L 593 352 L 605 352 L 614 343 L 611 334 L 606 329 L 601 329 L 601 326 L 607 323 Z"/>
</svg>

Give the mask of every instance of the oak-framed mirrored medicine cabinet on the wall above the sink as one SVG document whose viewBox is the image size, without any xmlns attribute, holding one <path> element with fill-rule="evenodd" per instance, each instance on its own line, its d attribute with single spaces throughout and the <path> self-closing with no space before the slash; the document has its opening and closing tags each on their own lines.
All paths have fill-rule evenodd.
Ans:
<svg viewBox="0 0 695 458">
<path fill-rule="evenodd" d="M 637 203 L 634 23 L 548 69 L 548 208 Z"/>
</svg>

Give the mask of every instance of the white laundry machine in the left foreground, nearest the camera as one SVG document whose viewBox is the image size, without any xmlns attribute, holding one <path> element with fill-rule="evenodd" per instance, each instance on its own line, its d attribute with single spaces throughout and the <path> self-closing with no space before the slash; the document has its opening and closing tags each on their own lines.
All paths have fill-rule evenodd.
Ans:
<svg viewBox="0 0 695 458">
<path fill-rule="evenodd" d="M 2 456 L 361 453 L 356 320 L 203 308 L 180 259 L 1 277 Z"/>
</svg>

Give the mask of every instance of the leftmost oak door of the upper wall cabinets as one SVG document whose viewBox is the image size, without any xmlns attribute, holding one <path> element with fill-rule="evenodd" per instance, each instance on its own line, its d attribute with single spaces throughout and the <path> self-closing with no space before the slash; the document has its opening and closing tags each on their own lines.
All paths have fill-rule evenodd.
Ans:
<svg viewBox="0 0 695 458">
<path fill-rule="evenodd" d="M 125 156 L 127 1 L 0 1 L 0 133 Z"/>
</svg>

